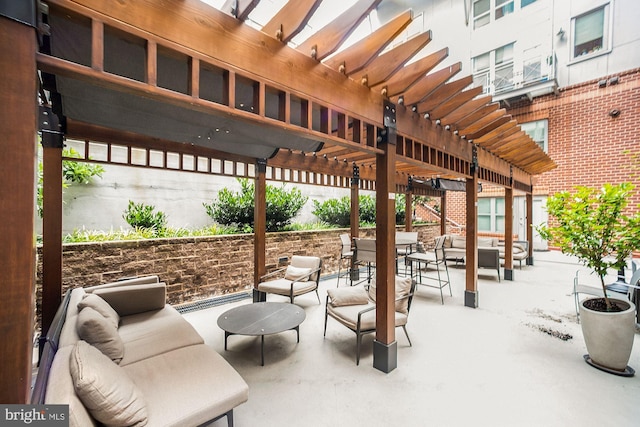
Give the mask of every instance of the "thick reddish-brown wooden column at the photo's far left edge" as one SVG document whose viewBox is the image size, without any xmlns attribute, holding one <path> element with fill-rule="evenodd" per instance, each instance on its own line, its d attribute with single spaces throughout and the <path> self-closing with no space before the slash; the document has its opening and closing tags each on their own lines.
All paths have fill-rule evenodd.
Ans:
<svg viewBox="0 0 640 427">
<path fill-rule="evenodd" d="M 0 402 L 29 401 L 33 350 L 36 32 L 0 16 Z"/>
</svg>

